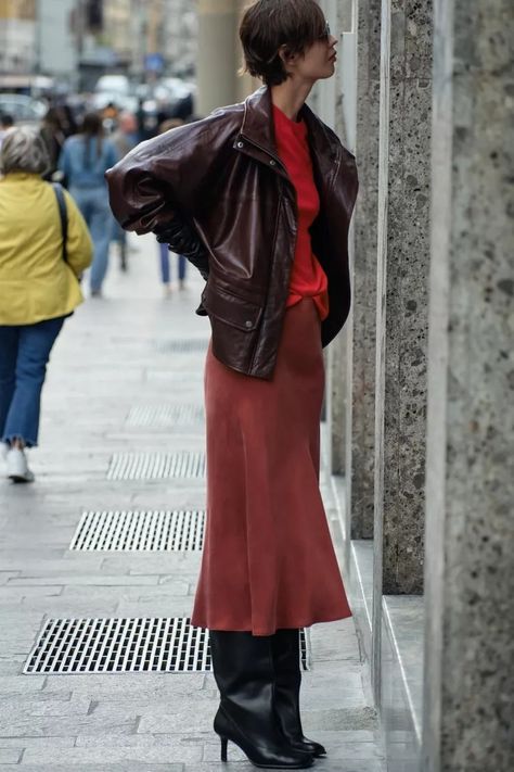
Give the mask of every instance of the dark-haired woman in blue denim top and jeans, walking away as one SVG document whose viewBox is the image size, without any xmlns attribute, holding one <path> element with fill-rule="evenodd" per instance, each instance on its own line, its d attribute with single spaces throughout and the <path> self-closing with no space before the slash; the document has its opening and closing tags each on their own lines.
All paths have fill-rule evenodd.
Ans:
<svg viewBox="0 0 514 772">
<path fill-rule="evenodd" d="M 80 134 L 65 141 L 59 160 L 59 168 L 88 224 L 94 244 L 90 277 L 92 298 L 101 296 L 107 273 L 113 222 L 104 174 L 117 160 L 116 148 L 104 137 L 98 113 L 85 115 Z"/>
</svg>

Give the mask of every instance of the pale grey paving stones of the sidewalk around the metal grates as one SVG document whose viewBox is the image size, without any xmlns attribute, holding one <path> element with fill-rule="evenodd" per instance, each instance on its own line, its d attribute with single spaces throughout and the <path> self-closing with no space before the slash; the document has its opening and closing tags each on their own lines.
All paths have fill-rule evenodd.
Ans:
<svg viewBox="0 0 514 772">
<path fill-rule="evenodd" d="M 208 338 L 208 324 L 193 313 L 201 279 L 191 276 L 187 292 L 164 299 L 156 243 L 149 237 L 131 244 L 129 273 L 119 273 L 113 254 L 105 299 L 87 301 L 56 344 L 43 393 L 41 447 L 31 454 L 36 483 L 0 482 L 1 770 L 253 769 L 233 745 L 229 763 L 219 761 L 210 674 L 22 672 L 49 618 L 191 613 L 200 553 L 69 549 L 83 511 L 204 507 L 202 479 L 107 477 L 113 454 L 204 446 L 202 422 L 188 425 L 185 417 L 182 426 L 169 426 L 170 415 L 193 415 L 202 404 L 204 354 L 170 346 Z M 335 523 L 326 484 L 324 494 Z M 382 772 L 352 621 L 317 625 L 310 641 L 305 729 L 330 750 L 316 769 Z"/>
</svg>

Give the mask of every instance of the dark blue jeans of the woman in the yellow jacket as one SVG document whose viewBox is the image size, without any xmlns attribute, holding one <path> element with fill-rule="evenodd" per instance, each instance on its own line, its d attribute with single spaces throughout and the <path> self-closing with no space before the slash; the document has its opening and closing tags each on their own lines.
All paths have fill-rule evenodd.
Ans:
<svg viewBox="0 0 514 772">
<path fill-rule="evenodd" d="M 41 389 L 63 316 L 37 325 L 0 325 L 0 438 L 38 444 Z"/>
</svg>

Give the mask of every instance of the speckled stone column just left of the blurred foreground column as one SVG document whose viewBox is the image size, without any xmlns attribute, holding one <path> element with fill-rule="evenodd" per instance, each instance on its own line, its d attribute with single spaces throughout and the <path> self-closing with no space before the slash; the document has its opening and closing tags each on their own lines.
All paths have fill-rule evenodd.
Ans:
<svg viewBox="0 0 514 772">
<path fill-rule="evenodd" d="M 381 39 L 376 622 L 381 593 L 423 589 L 432 0 L 383 0 Z"/>
</svg>

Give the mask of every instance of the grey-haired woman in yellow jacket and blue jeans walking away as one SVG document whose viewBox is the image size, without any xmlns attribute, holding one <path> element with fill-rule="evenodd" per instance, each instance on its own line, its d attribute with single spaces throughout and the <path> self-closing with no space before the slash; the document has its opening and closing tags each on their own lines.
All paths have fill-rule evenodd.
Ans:
<svg viewBox="0 0 514 772">
<path fill-rule="evenodd" d="M 50 156 L 40 135 L 12 129 L 0 151 L 0 439 L 8 477 L 31 482 L 25 447 L 38 442 L 41 389 L 64 319 L 82 302 L 78 277 L 91 263 L 86 223 L 64 193 L 66 262 L 52 186 L 41 178 Z"/>
</svg>

